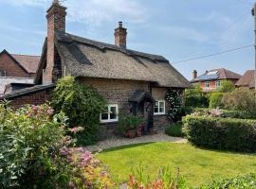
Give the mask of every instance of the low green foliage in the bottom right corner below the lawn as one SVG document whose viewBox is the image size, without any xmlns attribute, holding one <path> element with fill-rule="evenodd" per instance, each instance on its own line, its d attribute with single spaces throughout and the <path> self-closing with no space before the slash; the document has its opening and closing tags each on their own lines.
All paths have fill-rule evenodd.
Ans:
<svg viewBox="0 0 256 189">
<path fill-rule="evenodd" d="M 214 180 L 202 185 L 199 189 L 255 189 L 256 174 L 238 176 L 232 179 Z"/>
</svg>

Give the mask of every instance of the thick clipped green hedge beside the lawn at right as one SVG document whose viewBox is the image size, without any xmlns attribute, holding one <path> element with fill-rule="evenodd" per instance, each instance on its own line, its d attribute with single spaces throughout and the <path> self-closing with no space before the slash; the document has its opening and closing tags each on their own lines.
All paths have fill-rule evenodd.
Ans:
<svg viewBox="0 0 256 189">
<path fill-rule="evenodd" d="M 189 141 L 196 146 L 256 152 L 256 120 L 188 115 L 183 123 Z"/>
</svg>

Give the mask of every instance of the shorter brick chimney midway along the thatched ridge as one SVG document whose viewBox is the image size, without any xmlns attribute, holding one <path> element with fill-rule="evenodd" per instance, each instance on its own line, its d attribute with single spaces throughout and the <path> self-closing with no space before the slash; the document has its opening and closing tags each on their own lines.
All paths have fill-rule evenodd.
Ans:
<svg viewBox="0 0 256 189">
<path fill-rule="evenodd" d="M 119 27 L 115 29 L 115 44 L 119 47 L 126 48 L 127 29 L 122 27 L 122 22 L 119 22 Z"/>
</svg>

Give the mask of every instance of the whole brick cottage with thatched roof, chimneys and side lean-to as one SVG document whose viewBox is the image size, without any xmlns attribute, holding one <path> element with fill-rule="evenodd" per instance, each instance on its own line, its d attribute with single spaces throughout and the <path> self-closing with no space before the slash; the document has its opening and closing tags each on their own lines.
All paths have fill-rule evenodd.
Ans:
<svg viewBox="0 0 256 189">
<path fill-rule="evenodd" d="M 72 75 L 106 98 L 108 109 L 100 116 L 105 135 L 117 129 L 119 113 L 141 113 L 147 130 L 168 126 L 168 89 L 182 91 L 191 83 L 164 57 L 128 49 L 127 29 L 121 22 L 115 29 L 115 44 L 109 44 L 65 32 L 65 16 L 66 8 L 53 1 L 46 15 L 47 37 L 37 85 L 6 95 L 12 105 L 43 103 L 58 79 Z"/>
</svg>

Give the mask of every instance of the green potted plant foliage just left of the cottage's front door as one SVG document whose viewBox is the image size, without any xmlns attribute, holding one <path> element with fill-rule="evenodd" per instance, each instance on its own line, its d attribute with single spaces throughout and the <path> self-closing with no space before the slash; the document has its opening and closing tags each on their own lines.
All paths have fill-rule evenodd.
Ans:
<svg viewBox="0 0 256 189">
<path fill-rule="evenodd" d="M 138 115 L 120 115 L 119 116 L 119 130 L 121 134 L 125 135 L 129 130 L 137 130 L 143 123 L 143 118 Z"/>
</svg>

